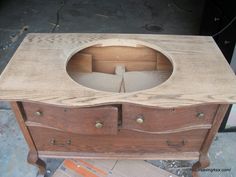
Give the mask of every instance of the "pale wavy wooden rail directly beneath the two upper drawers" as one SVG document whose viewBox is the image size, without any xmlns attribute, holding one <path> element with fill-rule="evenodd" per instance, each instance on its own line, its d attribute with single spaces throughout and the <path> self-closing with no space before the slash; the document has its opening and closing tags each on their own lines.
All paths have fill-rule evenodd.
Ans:
<svg viewBox="0 0 236 177">
<path fill-rule="evenodd" d="M 68 133 L 79 134 L 73 131 L 63 130 L 61 128 L 56 128 L 52 126 L 47 126 L 38 122 L 26 121 L 25 124 L 29 127 L 41 127 L 41 128 L 48 128 L 48 129 L 53 129 L 53 130 L 62 131 L 62 132 L 66 131 Z M 129 128 L 118 128 L 118 129 L 127 130 L 127 131 L 135 131 L 135 132 L 146 133 L 146 134 L 161 135 L 161 134 L 171 134 L 171 133 L 179 133 L 179 132 L 185 132 L 185 131 L 191 131 L 191 130 L 197 130 L 197 129 L 210 129 L 210 128 L 211 128 L 211 124 L 192 125 L 192 126 L 181 127 L 177 129 L 171 129 L 171 130 L 165 130 L 165 131 L 159 131 L 159 132 L 145 131 L 145 130 L 140 130 L 140 129 L 129 129 Z"/>
</svg>

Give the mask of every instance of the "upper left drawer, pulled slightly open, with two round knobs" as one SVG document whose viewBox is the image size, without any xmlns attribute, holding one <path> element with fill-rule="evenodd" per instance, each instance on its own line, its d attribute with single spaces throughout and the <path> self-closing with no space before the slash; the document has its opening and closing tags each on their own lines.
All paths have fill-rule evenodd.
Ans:
<svg viewBox="0 0 236 177">
<path fill-rule="evenodd" d="M 27 126 L 38 126 L 87 135 L 117 133 L 118 108 L 62 108 L 44 104 L 23 103 Z"/>
</svg>

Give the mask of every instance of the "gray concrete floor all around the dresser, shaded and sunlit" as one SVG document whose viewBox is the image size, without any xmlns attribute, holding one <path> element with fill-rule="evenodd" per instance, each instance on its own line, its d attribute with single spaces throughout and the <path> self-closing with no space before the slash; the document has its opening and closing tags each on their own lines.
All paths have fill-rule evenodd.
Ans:
<svg viewBox="0 0 236 177">
<path fill-rule="evenodd" d="M 203 0 L 1 0 L 0 73 L 29 32 L 198 34 L 202 9 Z M 235 134 L 218 137 L 210 152 L 212 172 L 202 172 L 202 176 L 236 176 Z M 36 168 L 26 163 L 27 151 L 9 105 L 0 102 L 0 177 L 36 176 Z M 47 176 L 60 162 L 47 159 Z M 150 163 L 190 176 L 192 162 Z M 219 173 L 214 168 L 231 171 Z"/>
</svg>

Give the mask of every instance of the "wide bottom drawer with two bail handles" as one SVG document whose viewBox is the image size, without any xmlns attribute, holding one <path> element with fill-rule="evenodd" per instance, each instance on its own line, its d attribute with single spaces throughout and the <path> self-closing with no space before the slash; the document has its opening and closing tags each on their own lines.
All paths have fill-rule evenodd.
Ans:
<svg viewBox="0 0 236 177">
<path fill-rule="evenodd" d="M 120 130 L 117 135 L 78 135 L 40 127 L 28 127 L 39 151 L 87 153 L 198 152 L 208 132 L 191 130 L 152 135 Z"/>
</svg>

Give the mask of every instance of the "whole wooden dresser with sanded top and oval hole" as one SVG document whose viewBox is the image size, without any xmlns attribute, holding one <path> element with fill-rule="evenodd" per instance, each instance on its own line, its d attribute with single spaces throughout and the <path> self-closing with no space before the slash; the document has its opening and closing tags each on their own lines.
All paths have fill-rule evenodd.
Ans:
<svg viewBox="0 0 236 177">
<path fill-rule="evenodd" d="M 42 174 L 40 157 L 197 160 L 198 176 L 236 78 L 211 37 L 28 34 L 0 99 Z"/>
</svg>

